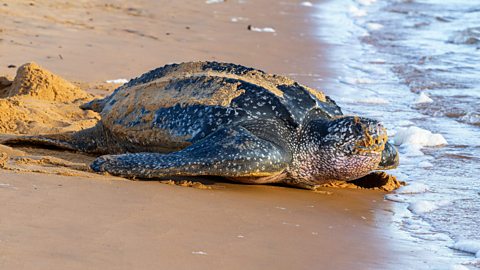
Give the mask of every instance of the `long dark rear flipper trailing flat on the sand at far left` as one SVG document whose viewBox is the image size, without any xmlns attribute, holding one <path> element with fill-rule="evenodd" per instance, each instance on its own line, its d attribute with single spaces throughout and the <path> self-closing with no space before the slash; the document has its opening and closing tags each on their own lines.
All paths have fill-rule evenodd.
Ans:
<svg viewBox="0 0 480 270">
<path fill-rule="evenodd" d="M 19 136 L 2 142 L 5 145 L 49 146 L 70 151 L 104 153 L 102 141 L 104 135 L 99 126 L 78 132 L 46 134 L 37 136 Z"/>
</svg>

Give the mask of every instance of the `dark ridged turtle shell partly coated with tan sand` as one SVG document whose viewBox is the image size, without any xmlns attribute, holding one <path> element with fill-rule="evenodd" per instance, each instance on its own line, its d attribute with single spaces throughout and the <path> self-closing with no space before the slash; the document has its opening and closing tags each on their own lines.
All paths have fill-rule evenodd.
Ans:
<svg viewBox="0 0 480 270">
<path fill-rule="evenodd" d="M 312 109 L 341 115 L 321 91 L 241 65 L 187 62 L 130 80 L 100 101 L 103 127 L 119 143 L 174 151 L 221 127 L 278 120 L 297 128 Z"/>
</svg>

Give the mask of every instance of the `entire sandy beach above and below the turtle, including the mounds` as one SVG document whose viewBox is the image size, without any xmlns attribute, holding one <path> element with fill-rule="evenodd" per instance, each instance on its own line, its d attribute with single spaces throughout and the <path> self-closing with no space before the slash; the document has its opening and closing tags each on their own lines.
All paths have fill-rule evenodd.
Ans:
<svg viewBox="0 0 480 270">
<path fill-rule="evenodd" d="M 108 94 L 105 80 L 168 62 L 235 62 L 312 86 L 329 76 L 308 7 L 240 2 L 2 1 L 0 139 L 91 126 L 98 115 L 77 105 Z M 7 66 L 32 61 L 75 83 L 36 64 L 11 82 Z M 87 172 L 93 158 L 0 145 L 1 269 L 388 269 L 409 254 L 380 190 L 136 182 Z"/>
</svg>

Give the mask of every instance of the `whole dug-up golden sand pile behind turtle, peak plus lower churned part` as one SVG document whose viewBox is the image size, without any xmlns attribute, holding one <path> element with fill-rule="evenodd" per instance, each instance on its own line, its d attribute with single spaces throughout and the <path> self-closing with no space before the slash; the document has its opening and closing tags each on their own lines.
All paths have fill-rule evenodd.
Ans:
<svg viewBox="0 0 480 270">
<path fill-rule="evenodd" d="M 0 77 L 0 133 L 33 135 L 91 127 L 99 115 L 79 106 L 92 98 L 37 64 L 22 65 L 13 81 Z"/>
</svg>

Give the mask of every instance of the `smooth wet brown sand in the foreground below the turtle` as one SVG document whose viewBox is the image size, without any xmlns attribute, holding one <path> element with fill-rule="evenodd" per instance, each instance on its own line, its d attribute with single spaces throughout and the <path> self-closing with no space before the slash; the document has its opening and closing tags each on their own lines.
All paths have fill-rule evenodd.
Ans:
<svg viewBox="0 0 480 270">
<path fill-rule="evenodd" d="M 378 192 L 1 179 L 3 269 L 386 269 L 398 256 Z"/>
</svg>

